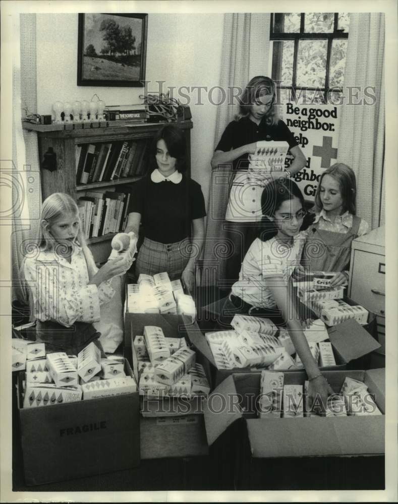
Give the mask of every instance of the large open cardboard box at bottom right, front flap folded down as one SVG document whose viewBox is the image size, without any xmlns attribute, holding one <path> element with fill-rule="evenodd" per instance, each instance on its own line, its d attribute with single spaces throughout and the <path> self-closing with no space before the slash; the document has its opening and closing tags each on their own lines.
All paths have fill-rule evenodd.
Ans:
<svg viewBox="0 0 398 504">
<path fill-rule="evenodd" d="M 324 374 L 336 393 L 339 393 L 346 376 L 363 381 L 368 386 L 369 393 L 377 406 L 384 413 L 384 369 L 325 371 Z M 311 480 L 308 479 L 308 474 L 302 481 L 297 480 L 297 474 L 289 468 L 291 458 L 295 460 L 294 467 L 300 470 L 302 465 L 306 467 L 307 460 L 309 463 L 315 462 L 315 467 L 320 468 L 323 464 L 322 458 L 338 457 L 340 462 L 337 468 L 341 471 L 347 456 L 361 459 L 362 456 L 367 459 L 373 456 L 377 461 L 383 456 L 384 415 L 257 418 L 255 398 L 260 394 L 260 377 L 259 373 L 233 374 L 210 394 L 204 404 L 209 447 L 220 436 L 228 434 L 234 424 L 239 425 L 239 435 L 235 434 L 234 437 L 230 436 L 228 439 L 231 443 L 235 438 L 236 443 L 235 458 L 238 464 L 235 472 L 235 488 L 269 488 L 267 469 L 273 464 L 277 465 L 279 459 L 284 459 L 282 467 L 290 473 L 291 487 L 312 489 L 314 488 L 312 480 L 318 478 L 318 471 Z M 285 385 L 304 385 L 306 374 L 300 371 L 287 372 L 284 378 Z M 299 461 L 298 458 L 300 458 Z M 347 480 L 351 478 L 355 485 L 358 471 L 345 474 L 345 482 L 342 482 L 338 475 L 339 472 L 328 473 L 326 479 L 333 485 L 341 482 L 344 487 Z M 320 473 L 319 476 L 321 477 L 322 474 Z M 282 481 L 283 478 L 279 478 L 279 484 Z M 286 487 L 279 489 L 286 489 Z"/>
</svg>

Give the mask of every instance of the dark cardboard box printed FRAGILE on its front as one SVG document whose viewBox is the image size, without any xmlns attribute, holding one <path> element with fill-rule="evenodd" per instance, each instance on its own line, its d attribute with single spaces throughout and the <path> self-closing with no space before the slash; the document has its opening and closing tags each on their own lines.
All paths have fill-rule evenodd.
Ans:
<svg viewBox="0 0 398 504">
<path fill-rule="evenodd" d="M 132 370 L 125 361 L 125 372 Z M 27 485 L 129 469 L 140 462 L 138 392 L 90 401 L 18 409 Z"/>
</svg>

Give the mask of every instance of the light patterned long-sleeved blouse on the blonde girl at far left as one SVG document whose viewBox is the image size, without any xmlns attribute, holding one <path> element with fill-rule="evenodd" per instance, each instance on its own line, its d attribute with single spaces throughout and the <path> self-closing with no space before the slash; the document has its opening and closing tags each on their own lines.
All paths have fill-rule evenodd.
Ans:
<svg viewBox="0 0 398 504">
<path fill-rule="evenodd" d="M 35 251 L 25 257 L 25 280 L 33 296 L 33 316 L 45 322 L 58 322 L 66 327 L 75 322 L 97 322 L 100 304 L 108 302 L 115 291 L 107 282 L 89 282 L 86 259 L 75 245 L 71 263 L 53 250 Z"/>
</svg>

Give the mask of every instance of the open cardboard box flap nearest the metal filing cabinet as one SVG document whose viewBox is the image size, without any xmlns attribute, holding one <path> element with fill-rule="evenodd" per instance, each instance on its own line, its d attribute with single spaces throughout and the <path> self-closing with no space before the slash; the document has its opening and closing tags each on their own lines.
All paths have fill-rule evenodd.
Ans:
<svg viewBox="0 0 398 504">
<path fill-rule="evenodd" d="M 380 344 L 354 319 L 330 327 L 327 332 L 333 347 L 346 362 L 380 348 Z"/>
</svg>

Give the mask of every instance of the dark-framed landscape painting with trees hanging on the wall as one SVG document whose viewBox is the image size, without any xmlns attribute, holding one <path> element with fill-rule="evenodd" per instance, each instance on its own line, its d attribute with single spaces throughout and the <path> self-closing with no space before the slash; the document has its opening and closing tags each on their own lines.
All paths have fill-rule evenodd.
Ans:
<svg viewBox="0 0 398 504">
<path fill-rule="evenodd" d="M 147 14 L 79 14 L 78 86 L 143 87 Z"/>
</svg>

